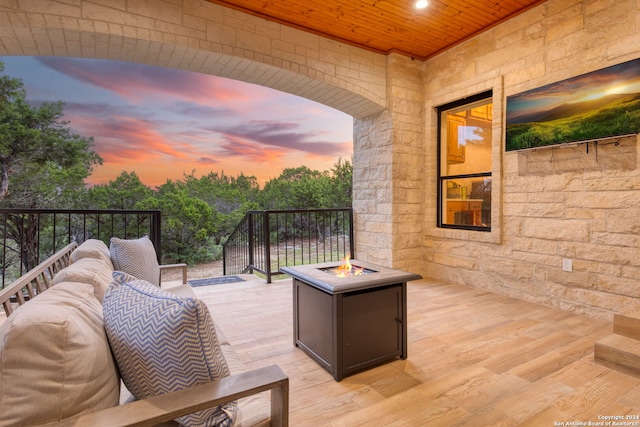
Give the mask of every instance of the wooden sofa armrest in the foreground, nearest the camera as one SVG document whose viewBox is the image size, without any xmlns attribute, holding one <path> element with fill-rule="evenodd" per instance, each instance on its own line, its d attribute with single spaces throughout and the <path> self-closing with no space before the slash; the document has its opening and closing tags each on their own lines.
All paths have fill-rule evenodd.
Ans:
<svg viewBox="0 0 640 427">
<path fill-rule="evenodd" d="M 271 426 L 287 427 L 289 425 L 289 377 L 277 365 L 48 423 L 43 427 L 153 426 L 268 390 L 271 391 Z"/>
</svg>

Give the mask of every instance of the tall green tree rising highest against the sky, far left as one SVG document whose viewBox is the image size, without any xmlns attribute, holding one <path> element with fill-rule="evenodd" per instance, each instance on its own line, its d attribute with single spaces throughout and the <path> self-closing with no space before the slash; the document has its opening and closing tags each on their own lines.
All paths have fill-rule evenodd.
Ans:
<svg viewBox="0 0 640 427">
<path fill-rule="evenodd" d="M 62 121 L 64 103 L 35 107 L 26 96 L 22 80 L 0 76 L 0 200 L 12 207 L 69 204 L 102 159 L 92 138 Z"/>
</svg>

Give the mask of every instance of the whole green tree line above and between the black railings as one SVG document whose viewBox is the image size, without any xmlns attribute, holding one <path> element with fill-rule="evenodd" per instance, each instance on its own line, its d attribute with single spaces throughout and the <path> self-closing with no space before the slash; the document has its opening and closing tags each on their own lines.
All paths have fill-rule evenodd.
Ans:
<svg viewBox="0 0 640 427">
<path fill-rule="evenodd" d="M 30 104 L 20 79 L 0 76 L 0 207 L 159 209 L 164 258 L 195 264 L 219 259 L 249 210 L 351 206 L 353 170 L 344 159 L 328 171 L 285 169 L 262 188 L 254 176 L 193 171 L 155 188 L 126 171 L 89 187 L 103 159 L 93 138 L 71 132 L 63 112 L 63 102 Z"/>
</svg>

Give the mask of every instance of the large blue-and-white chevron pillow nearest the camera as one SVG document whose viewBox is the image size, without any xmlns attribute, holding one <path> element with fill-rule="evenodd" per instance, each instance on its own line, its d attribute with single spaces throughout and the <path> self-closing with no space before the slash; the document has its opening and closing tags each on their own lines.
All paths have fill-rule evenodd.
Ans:
<svg viewBox="0 0 640 427">
<path fill-rule="evenodd" d="M 104 325 L 122 380 L 137 398 L 229 375 L 207 306 L 126 273 L 114 272 Z M 237 403 L 176 419 L 184 426 L 232 426 Z"/>
</svg>

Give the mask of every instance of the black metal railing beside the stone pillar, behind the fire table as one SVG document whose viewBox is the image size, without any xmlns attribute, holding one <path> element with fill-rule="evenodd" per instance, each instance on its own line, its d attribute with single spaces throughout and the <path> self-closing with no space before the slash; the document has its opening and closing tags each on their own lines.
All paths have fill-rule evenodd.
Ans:
<svg viewBox="0 0 640 427">
<path fill-rule="evenodd" d="M 224 274 L 271 277 L 281 267 L 355 257 L 353 209 L 249 211 L 223 246 Z"/>
</svg>

